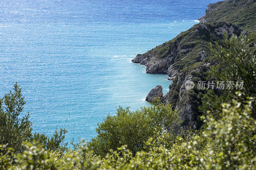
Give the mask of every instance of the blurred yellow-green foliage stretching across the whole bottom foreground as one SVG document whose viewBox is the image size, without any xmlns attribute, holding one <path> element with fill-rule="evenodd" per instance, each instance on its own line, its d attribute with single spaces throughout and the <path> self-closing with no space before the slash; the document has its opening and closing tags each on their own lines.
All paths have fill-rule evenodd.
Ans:
<svg viewBox="0 0 256 170">
<path fill-rule="evenodd" d="M 207 128 L 201 133 L 170 134 L 156 132 L 144 143 L 142 150 L 132 153 L 127 145 L 97 157 L 82 143 L 77 150 L 60 152 L 45 150 L 41 144 L 25 142 L 24 152 L 0 153 L 0 169 L 256 169 L 256 120 L 252 117 L 252 102 L 242 106 L 222 104 L 219 120 L 202 116 Z M 187 134 L 187 135 L 185 135 Z M 0 145 L 0 150 L 6 148 Z M 11 156 L 15 158 L 12 160 Z"/>
</svg>

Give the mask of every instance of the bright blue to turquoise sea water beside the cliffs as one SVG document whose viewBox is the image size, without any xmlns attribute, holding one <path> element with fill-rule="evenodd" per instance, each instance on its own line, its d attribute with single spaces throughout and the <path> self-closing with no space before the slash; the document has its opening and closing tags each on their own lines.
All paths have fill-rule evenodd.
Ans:
<svg viewBox="0 0 256 170">
<path fill-rule="evenodd" d="M 22 87 L 33 130 L 89 141 L 116 107 L 149 106 L 171 81 L 131 62 L 189 29 L 216 0 L 0 0 L 0 96 Z"/>
</svg>

